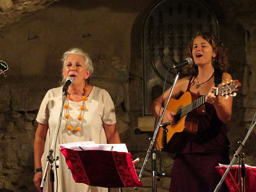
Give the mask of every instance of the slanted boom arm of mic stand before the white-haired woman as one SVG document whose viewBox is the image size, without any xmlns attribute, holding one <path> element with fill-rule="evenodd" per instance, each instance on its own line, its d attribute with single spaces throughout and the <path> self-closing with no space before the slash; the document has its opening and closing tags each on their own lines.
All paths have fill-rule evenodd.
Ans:
<svg viewBox="0 0 256 192">
<path fill-rule="evenodd" d="M 61 111 L 60 111 L 60 117 L 59 117 L 59 121 L 58 121 L 58 124 L 56 126 L 56 129 L 55 129 L 55 133 L 54 133 L 53 141 L 52 141 L 52 146 L 51 146 L 51 149 L 49 150 L 49 155 L 47 155 L 47 164 L 46 164 L 46 167 L 45 167 L 45 170 L 44 170 L 44 177 L 42 179 L 41 186 L 40 186 L 41 189 L 43 189 L 44 185 L 45 185 L 46 174 L 47 174 L 47 171 L 48 171 L 49 164 L 52 164 L 53 161 L 54 161 L 52 154 L 53 154 L 54 146 L 56 145 L 56 141 L 57 141 L 59 130 L 60 130 L 60 123 L 61 123 L 62 112 L 63 112 L 63 108 L 64 108 L 64 105 L 65 105 L 66 97 L 67 97 L 67 91 L 65 91 L 62 95 L 62 106 L 61 106 Z M 54 191 L 54 190 L 52 190 L 52 191 Z"/>
</svg>

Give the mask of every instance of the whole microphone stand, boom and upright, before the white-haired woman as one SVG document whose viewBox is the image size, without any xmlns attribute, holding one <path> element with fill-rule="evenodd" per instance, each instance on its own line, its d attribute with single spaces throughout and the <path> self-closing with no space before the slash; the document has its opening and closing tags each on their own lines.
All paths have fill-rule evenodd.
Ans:
<svg viewBox="0 0 256 192">
<path fill-rule="evenodd" d="M 45 186 L 45 181 L 46 181 L 46 175 L 47 175 L 47 171 L 49 169 L 49 165 L 51 166 L 51 170 L 50 170 L 50 181 L 51 181 L 51 191 L 54 192 L 54 171 L 53 171 L 53 162 L 55 161 L 55 159 L 53 158 L 53 152 L 54 152 L 54 149 L 55 149 L 55 146 L 56 146 L 56 141 L 57 141 L 57 138 L 58 138 L 58 134 L 59 134 L 59 130 L 60 130 L 60 123 L 61 123 L 61 118 L 62 118 L 62 112 L 63 112 L 63 108 L 64 108 L 64 105 L 65 105 L 65 101 L 66 101 L 66 97 L 67 97 L 67 94 L 68 94 L 68 91 L 67 89 L 66 90 L 62 90 L 63 91 L 63 95 L 62 95 L 62 106 L 61 106 L 61 111 L 60 111 L 60 116 L 59 116 L 59 121 L 58 121 L 58 124 L 56 126 L 56 129 L 55 129 L 55 133 L 54 133 L 54 136 L 53 136 L 53 141 L 52 141 L 52 145 L 51 145 L 51 149 L 49 150 L 49 155 L 47 155 L 47 164 L 46 164 L 46 167 L 45 167 L 45 170 L 44 170 L 44 176 L 43 176 L 43 179 L 42 179 L 42 182 L 41 182 L 41 189 L 44 188 Z M 59 161 L 59 156 L 56 157 L 56 161 Z M 57 168 L 59 167 L 56 166 Z"/>
</svg>

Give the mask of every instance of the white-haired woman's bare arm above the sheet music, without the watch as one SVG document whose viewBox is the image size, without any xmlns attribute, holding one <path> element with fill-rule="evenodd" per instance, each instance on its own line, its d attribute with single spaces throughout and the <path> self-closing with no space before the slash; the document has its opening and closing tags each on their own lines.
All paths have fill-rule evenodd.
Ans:
<svg viewBox="0 0 256 192">
<path fill-rule="evenodd" d="M 121 143 L 116 124 L 109 125 L 103 122 L 103 127 L 109 144 Z"/>
</svg>

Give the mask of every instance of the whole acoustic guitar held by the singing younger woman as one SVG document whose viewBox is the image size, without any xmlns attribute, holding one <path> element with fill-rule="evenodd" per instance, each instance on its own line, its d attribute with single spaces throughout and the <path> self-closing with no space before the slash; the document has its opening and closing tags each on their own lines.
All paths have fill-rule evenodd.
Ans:
<svg viewBox="0 0 256 192">
<path fill-rule="evenodd" d="M 241 86 L 237 80 L 223 83 L 216 90 L 211 91 L 215 95 L 221 95 L 228 98 L 229 96 L 236 96 L 238 88 Z M 204 115 L 205 106 L 204 103 L 206 95 L 198 98 L 196 94 L 191 94 L 190 92 L 185 92 L 180 99 L 169 100 L 167 109 L 169 111 L 176 112 L 174 116 L 174 122 L 167 126 L 167 136 L 166 141 L 164 139 L 163 143 L 163 128 L 159 127 L 156 135 L 156 141 L 158 143 L 159 149 L 167 150 L 170 153 L 177 152 L 182 142 L 185 142 L 188 135 L 195 135 L 197 133 L 197 120 L 196 114 Z M 166 99 L 167 100 L 167 99 Z M 166 103 L 164 101 L 164 105 Z M 197 110 L 197 113 L 190 113 L 193 110 Z M 188 115 L 189 114 L 189 115 Z M 165 122 L 163 122 L 165 123 Z M 187 134 L 189 133 L 189 134 Z M 166 142 L 166 146 L 165 146 Z M 155 143 L 155 144 L 157 144 Z"/>
</svg>

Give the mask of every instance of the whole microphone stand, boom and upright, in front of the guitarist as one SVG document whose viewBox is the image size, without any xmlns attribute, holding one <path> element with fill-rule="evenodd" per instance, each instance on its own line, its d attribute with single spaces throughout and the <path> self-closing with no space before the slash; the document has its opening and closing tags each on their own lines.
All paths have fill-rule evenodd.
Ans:
<svg viewBox="0 0 256 192">
<path fill-rule="evenodd" d="M 147 155 L 146 155 L 145 160 L 144 160 L 144 162 L 143 162 L 143 165 L 142 165 L 142 167 L 141 167 L 141 171 L 140 171 L 140 174 L 139 174 L 139 177 L 138 177 L 139 180 L 141 180 L 142 173 L 143 173 L 143 171 L 144 171 L 144 169 L 145 169 L 145 166 L 146 166 L 146 164 L 147 164 L 149 154 L 152 154 L 152 155 L 151 155 L 152 165 L 154 165 L 154 163 L 155 163 L 155 162 L 154 162 L 154 161 L 155 161 L 155 155 L 154 155 L 155 153 L 154 153 L 153 146 L 154 146 L 154 143 L 155 143 L 156 134 L 157 134 L 157 132 L 158 132 L 158 130 L 159 130 L 159 127 L 160 127 L 160 125 L 161 125 L 161 122 L 162 122 L 162 119 L 163 119 L 165 110 L 166 110 L 167 105 L 168 105 L 168 103 L 169 103 L 169 100 L 171 99 L 171 95 L 172 95 L 174 86 L 175 86 L 175 84 L 176 84 L 177 81 L 178 81 L 179 74 L 180 74 L 180 71 L 178 70 L 178 71 L 177 71 L 177 74 L 176 74 L 176 76 L 175 76 L 173 85 L 172 85 L 172 89 L 171 89 L 171 91 L 170 91 L 170 93 L 169 93 L 169 97 L 167 98 L 167 102 L 165 103 L 163 113 L 162 113 L 161 117 L 159 118 L 159 121 L 157 122 L 157 125 L 156 125 L 156 127 L 155 127 L 155 131 L 154 131 L 153 138 L 150 138 L 150 145 L 149 145 L 149 148 L 147 149 Z M 156 177 L 157 174 L 155 174 L 155 173 L 156 173 L 156 172 L 159 173 L 158 171 L 153 170 L 154 167 L 155 167 L 155 166 L 153 166 L 152 169 L 151 169 L 152 172 L 153 172 L 153 174 L 152 174 L 152 185 L 153 185 L 153 186 L 152 186 L 152 188 L 151 188 L 151 189 L 152 189 L 152 192 L 156 192 L 156 182 L 155 182 L 155 181 L 156 181 L 156 178 L 155 178 L 155 177 Z M 163 173 L 162 175 L 165 175 L 165 173 Z M 137 188 L 135 188 L 135 189 L 137 189 Z"/>
</svg>

